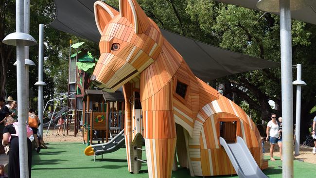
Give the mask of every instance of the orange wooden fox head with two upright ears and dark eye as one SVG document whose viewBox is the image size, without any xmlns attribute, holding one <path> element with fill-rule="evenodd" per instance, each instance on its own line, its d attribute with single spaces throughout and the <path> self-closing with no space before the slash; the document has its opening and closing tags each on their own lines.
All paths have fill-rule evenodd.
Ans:
<svg viewBox="0 0 316 178">
<path fill-rule="evenodd" d="M 99 88 L 114 92 L 157 58 L 163 37 L 136 0 L 120 0 L 120 12 L 102 1 L 94 3 L 100 34 L 100 58 L 91 76 Z"/>
</svg>

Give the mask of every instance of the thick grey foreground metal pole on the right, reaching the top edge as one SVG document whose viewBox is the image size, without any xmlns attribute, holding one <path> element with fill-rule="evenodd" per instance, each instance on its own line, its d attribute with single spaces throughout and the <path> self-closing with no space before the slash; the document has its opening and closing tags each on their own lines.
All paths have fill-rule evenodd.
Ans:
<svg viewBox="0 0 316 178">
<path fill-rule="evenodd" d="M 282 84 L 282 177 L 293 178 L 293 89 L 290 0 L 280 0 L 281 84 Z"/>
</svg>

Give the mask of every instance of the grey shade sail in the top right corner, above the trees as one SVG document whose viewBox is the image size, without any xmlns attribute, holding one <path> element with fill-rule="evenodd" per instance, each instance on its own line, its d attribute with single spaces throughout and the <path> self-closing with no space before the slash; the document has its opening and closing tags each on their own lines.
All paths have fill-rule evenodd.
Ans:
<svg viewBox="0 0 316 178">
<path fill-rule="evenodd" d="M 237 6 L 246 7 L 249 9 L 258 10 L 257 2 L 259 0 L 214 0 L 218 2 L 224 2 L 227 4 L 233 4 Z M 278 14 L 278 13 L 275 13 Z M 316 0 L 310 0 L 306 7 L 303 7 L 297 11 L 291 11 L 291 18 L 301 20 L 307 23 L 316 24 Z"/>
</svg>

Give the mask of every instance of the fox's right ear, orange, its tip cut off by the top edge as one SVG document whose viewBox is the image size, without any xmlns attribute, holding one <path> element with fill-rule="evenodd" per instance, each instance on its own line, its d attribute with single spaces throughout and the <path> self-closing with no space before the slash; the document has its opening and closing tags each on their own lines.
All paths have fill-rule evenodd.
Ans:
<svg viewBox="0 0 316 178">
<path fill-rule="evenodd" d="M 120 14 L 133 24 L 136 34 L 145 32 L 150 25 L 148 17 L 137 0 L 120 0 Z"/>
</svg>

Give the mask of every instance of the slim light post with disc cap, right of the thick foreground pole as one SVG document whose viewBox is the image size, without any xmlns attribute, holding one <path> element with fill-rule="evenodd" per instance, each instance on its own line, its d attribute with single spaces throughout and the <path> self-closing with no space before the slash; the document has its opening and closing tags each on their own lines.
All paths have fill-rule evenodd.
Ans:
<svg viewBox="0 0 316 178">
<path fill-rule="evenodd" d="M 301 87 L 305 86 L 306 83 L 302 81 L 302 65 L 297 65 L 297 79 L 293 82 L 296 85 L 296 127 L 295 127 L 295 156 L 299 155 L 299 137 L 300 137 L 300 96 Z"/>
</svg>

